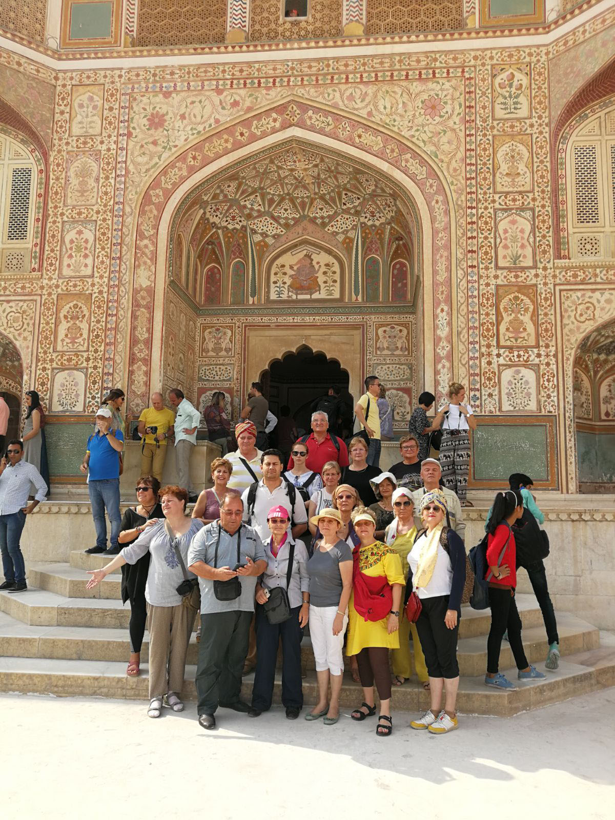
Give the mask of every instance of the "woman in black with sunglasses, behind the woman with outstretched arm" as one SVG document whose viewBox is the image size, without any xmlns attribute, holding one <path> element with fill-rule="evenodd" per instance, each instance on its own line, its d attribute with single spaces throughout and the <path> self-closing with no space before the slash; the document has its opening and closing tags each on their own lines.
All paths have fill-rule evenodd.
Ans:
<svg viewBox="0 0 615 820">
<path fill-rule="evenodd" d="M 160 481 L 154 476 L 141 476 L 137 481 L 137 506 L 129 507 L 121 520 L 121 531 L 118 543 L 122 547 L 132 544 L 144 531 L 144 523 L 152 518 L 164 518 L 162 507 L 158 501 Z M 121 599 L 126 603 L 130 600 L 130 659 L 126 674 L 130 677 L 139 675 L 141 659 L 141 644 L 145 632 L 148 613 L 145 604 L 145 584 L 148 581 L 149 550 L 143 558 L 134 564 L 125 564 L 121 568 Z"/>
</svg>

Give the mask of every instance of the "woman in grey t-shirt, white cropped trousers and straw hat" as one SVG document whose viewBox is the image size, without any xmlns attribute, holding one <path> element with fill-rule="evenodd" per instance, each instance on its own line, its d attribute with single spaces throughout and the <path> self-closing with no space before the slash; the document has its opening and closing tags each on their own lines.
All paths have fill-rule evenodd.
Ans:
<svg viewBox="0 0 615 820">
<path fill-rule="evenodd" d="M 324 722 L 331 726 L 339 720 L 339 692 L 344 676 L 344 633 L 348 626 L 348 600 L 353 586 L 353 553 L 348 544 L 338 538 L 337 531 L 342 525 L 338 510 L 325 508 L 310 522 L 318 527 L 322 535 L 314 545 L 312 558 L 307 562 L 310 576 L 310 638 L 316 661 L 318 703 L 305 719 L 324 717 Z"/>
</svg>

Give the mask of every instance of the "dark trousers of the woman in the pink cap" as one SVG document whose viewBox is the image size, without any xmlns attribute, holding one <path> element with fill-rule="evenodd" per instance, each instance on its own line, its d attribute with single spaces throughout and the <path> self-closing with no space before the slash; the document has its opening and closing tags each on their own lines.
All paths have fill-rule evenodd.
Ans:
<svg viewBox="0 0 615 820">
<path fill-rule="evenodd" d="M 301 641 L 303 629 L 299 626 L 299 610 L 290 610 L 290 617 L 284 623 L 271 624 L 267 621 L 262 604 L 256 605 L 257 667 L 254 672 L 252 705 L 266 712 L 271 708 L 273 686 L 276 678 L 278 646 L 282 641 L 282 704 L 296 708 L 303 707 L 303 686 L 301 684 Z"/>
</svg>

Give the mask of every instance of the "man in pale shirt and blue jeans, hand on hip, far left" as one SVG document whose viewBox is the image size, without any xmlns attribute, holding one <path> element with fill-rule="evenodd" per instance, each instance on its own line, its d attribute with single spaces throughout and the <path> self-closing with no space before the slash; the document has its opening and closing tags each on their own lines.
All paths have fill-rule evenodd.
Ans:
<svg viewBox="0 0 615 820">
<path fill-rule="evenodd" d="M 0 590 L 23 592 L 25 583 L 25 563 L 21 553 L 21 531 L 25 517 L 38 507 L 39 501 L 47 496 L 47 484 L 34 467 L 22 458 L 24 445 L 21 441 L 9 441 L 7 452 L 0 460 L 0 550 L 2 551 L 2 572 L 4 582 Z M 28 503 L 30 486 L 36 488 L 34 501 Z"/>
</svg>

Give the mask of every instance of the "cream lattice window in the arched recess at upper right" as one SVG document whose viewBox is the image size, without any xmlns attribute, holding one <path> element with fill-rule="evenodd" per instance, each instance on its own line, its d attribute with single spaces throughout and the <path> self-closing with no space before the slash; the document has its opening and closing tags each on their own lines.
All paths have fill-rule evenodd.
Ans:
<svg viewBox="0 0 615 820">
<path fill-rule="evenodd" d="M 615 257 L 615 106 L 585 121 L 567 145 L 572 258 Z"/>
</svg>

